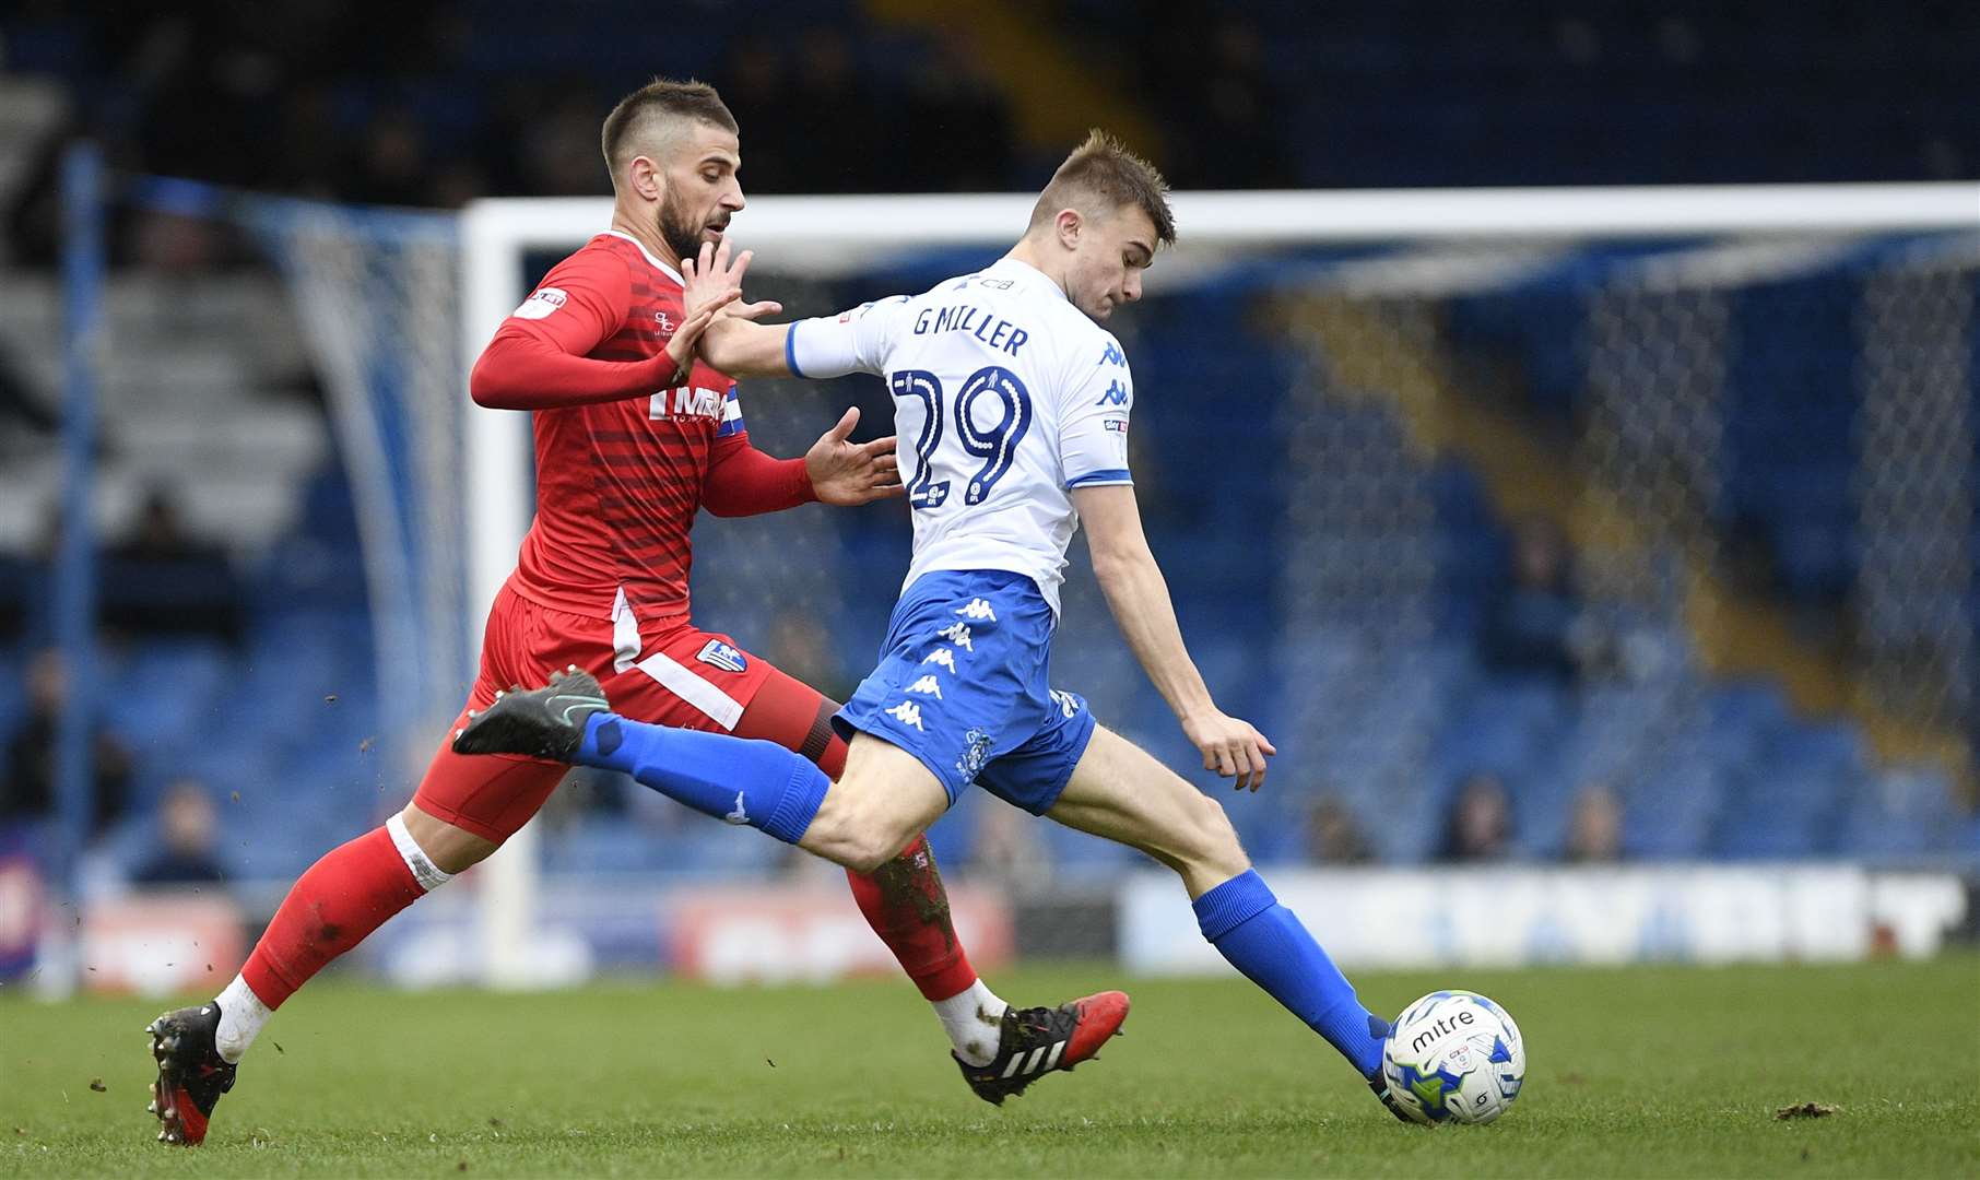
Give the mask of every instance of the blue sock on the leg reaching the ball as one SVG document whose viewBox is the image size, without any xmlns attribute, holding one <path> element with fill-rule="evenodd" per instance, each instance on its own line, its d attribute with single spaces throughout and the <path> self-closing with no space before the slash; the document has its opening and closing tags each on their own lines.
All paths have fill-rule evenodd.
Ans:
<svg viewBox="0 0 1980 1180">
<path fill-rule="evenodd" d="M 1218 952 L 1327 1043 L 1374 1077 L 1382 1069 L 1388 1024 L 1354 998 L 1335 960 L 1327 958 L 1293 911 L 1249 869 L 1196 899 L 1196 925 Z"/>
</svg>

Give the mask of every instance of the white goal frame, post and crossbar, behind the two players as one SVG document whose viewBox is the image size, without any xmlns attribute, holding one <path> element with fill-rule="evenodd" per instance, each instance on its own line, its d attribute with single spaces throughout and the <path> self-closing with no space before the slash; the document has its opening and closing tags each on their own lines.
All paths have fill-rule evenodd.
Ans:
<svg viewBox="0 0 1980 1180">
<path fill-rule="evenodd" d="M 982 194 L 982 196 L 766 196 L 752 198 L 739 214 L 733 230 L 737 247 L 750 247 L 758 253 L 758 273 L 802 275 L 808 279 L 847 279 L 861 273 L 885 269 L 891 259 L 915 255 L 939 247 L 984 247 L 1000 249 L 1014 242 L 1030 216 L 1034 198 L 1028 194 Z M 1895 291 L 1899 303 L 1895 311 L 1887 307 L 1871 315 L 1867 333 L 1871 344 L 1867 354 L 1881 354 L 1881 337 L 1889 331 L 1893 341 L 1907 339 L 1915 325 L 1932 321 L 1940 311 L 1940 289 L 1932 287 L 1929 275 L 1946 271 L 1972 277 L 1980 267 L 1980 182 L 1944 184 L 1830 184 L 1830 186 L 1707 186 L 1707 188 L 1501 188 L 1501 190 L 1366 190 L 1366 192 L 1182 192 L 1174 196 L 1176 226 L 1180 234 L 1178 249 L 1150 273 L 1150 295 L 1164 289 L 1184 289 L 1196 283 L 1216 281 L 1228 267 L 1243 259 L 1273 257 L 1285 253 L 1293 263 L 1305 265 L 1301 249 L 1313 247 L 1390 247 L 1356 259 L 1352 269 L 1313 267 L 1313 281 L 1331 293 L 1366 297 L 1362 307 L 1374 311 L 1396 327 L 1372 331 L 1366 317 L 1358 319 L 1352 331 L 1362 333 L 1356 346 L 1335 346 L 1336 368 L 1350 368 L 1366 362 L 1370 372 L 1390 372 L 1396 384 L 1406 384 L 1404 370 L 1382 370 L 1384 356 L 1398 341 L 1410 337 L 1410 325 L 1418 325 L 1424 299 L 1449 293 L 1453 275 L 1459 271 L 1477 275 L 1477 265 L 1531 265 L 1533 257 L 1560 257 L 1562 251 L 1578 249 L 1590 242 L 1677 242 L 1695 240 L 1685 247 L 1683 265 L 1667 267 L 1669 279 L 1683 289 L 1671 305 L 1659 305 L 1641 313 L 1643 346 L 1667 350 L 1673 358 L 1693 356 L 1699 341 L 1707 344 L 1711 337 L 1713 295 L 1727 285 L 1764 281 L 1768 275 L 1790 273 L 1794 267 L 1828 265 L 1851 244 L 1871 238 L 1895 240 L 1897 236 L 1934 236 L 1929 246 L 1930 257 L 1923 257 L 1913 269 L 1909 263 L 1893 261 L 1899 273 Z M 461 390 L 465 390 L 465 364 L 479 354 L 495 327 L 527 295 L 529 275 L 525 273 L 531 255 L 560 255 L 574 249 L 592 234 L 608 228 L 610 202 L 592 198 L 558 200 L 479 200 L 459 218 L 459 333 Z M 1968 232 L 1968 234 L 1958 234 Z M 1732 249 L 1738 244 L 1752 249 Z M 1893 247 L 1897 249 L 1897 247 Z M 988 257 L 988 255 L 986 255 Z M 1893 255 L 1895 259 L 1897 255 Z M 1909 255 L 1907 255 L 1909 257 Z M 1422 265 L 1426 261 L 1447 261 L 1451 265 Z M 1497 261 L 1495 261 L 1497 259 Z M 1669 261 L 1669 259 L 1667 259 Z M 1471 265 L 1477 263 L 1477 265 Z M 1936 269 L 1934 269 L 1936 267 Z M 1917 275 L 1923 285 L 1907 287 Z M 1301 279 L 1291 273 L 1287 283 Z M 1954 283 L 1958 287 L 1960 283 Z M 1968 283 L 1970 285 L 1970 283 Z M 1669 287 L 1665 287 L 1667 291 Z M 1889 303 L 1891 291 L 1885 293 Z M 893 291 L 865 291 L 861 297 L 877 297 Z M 1659 299 L 1663 295 L 1657 295 Z M 1398 311 L 1396 299 L 1410 301 L 1408 315 Z M 1626 301 L 1628 303 L 1628 301 Z M 1637 315 L 1628 305 L 1626 319 Z M 1889 323 L 1875 319 L 1887 315 Z M 1659 319 L 1661 317 L 1661 319 Z M 1659 325 L 1681 321 L 1679 327 Z M 1958 339 L 1970 333 L 1970 307 L 1964 321 L 1942 325 L 1944 333 Z M 1333 319 L 1315 327 L 1315 339 L 1338 329 L 1344 321 Z M 1630 321 L 1637 323 L 1637 321 Z M 1936 323 L 1936 321 L 1932 321 Z M 1635 329 L 1630 329 L 1635 331 Z M 1657 333 L 1683 333 L 1661 337 Z M 1938 329 L 1934 329 L 1938 331 Z M 1370 335 L 1372 333 L 1372 335 Z M 1331 337 L 1329 337 L 1331 341 Z M 1329 344 L 1333 346 L 1333 344 Z M 1624 356 L 1626 350 L 1614 352 Z M 1606 364 L 1608 352 L 1598 350 L 1590 362 Z M 1938 356 L 1938 352 L 1932 352 Z M 1392 356 L 1390 356 L 1392 358 Z M 1689 364 L 1689 360 L 1685 360 Z M 1618 360 L 1628 364 L 1628 360 Z M 1711 368 L 1713 362 L 1699 362 Z M 1944 364 L 1952 364 L 1944 360 Z M 1705 370 L 1701 368 L 1701 372 Z M 1138 376 L 1144 382 L 1160 382 L 1158 372 Z M 1641 396 L 1661 396 L 1651 388 L 1651 374 L 1624 374 L 1626 384 Z M 1641 380 L 1637 380 L 1641 376 Z M 1913 380 L 1915 378 L 1915 380 Z M 1378 376 L 1364 376 L 1362 382 L 1380 384 Z M 1590 380 L 1600 384 L 1602 374 L 1592 372 Z M 1905 410 L 1917 406 L 1919 390 L 1954 394 L 1972 380 L 1968 372 L 1952 368 L 1899 374 L 1891 396 L 1893 406 Z M 1909 384 L 1907 384 L 1909 382 Z M 1685 384 L 1685 382 L 1681 382 Z M 1695 382 L 1685 384 L 1693 388 Z M 1685 398 L 1693 394 L 1671 394 Z M 1952 430 L 1968 445 L 1974 424 L 1970 414 L 1956 410 L 1958 398 L 1946 396 L 1944 406 L 1932 414 L 1952 414 L 1952 420 L 1930 418 L 1917 426 L 1901 412 L 1885 442 L 1877 445 L 1907 447 L 1927 434 Z M 1299 402 L 1303 404 L 1303 402 Z M 531 453 L 529 418 L 523 414 L 495 414 L 475 410 L 465 392 L 457 398 L 461 422 L 461 491 L 465 491 L 465 602 L 483 610 L 493 600 L 503 578 L 515 564 L 517 546 L 531 519 Z M 1934 402 L 1936 406 L 1936 402 Z M 1150 402 L 1150 414 L 1160 414 L 1160 400 Z M 1297 410 L 1287 410 L 1295 414 Z M 1689 414 L 1691 418 L 1685 418 Z M 1677 453 L 1687 447 L 1717 445 L 1709 430 L 1715 414 L 1709 400 L 1685 402 L 1679 420 L 1697 420 L 1697 436 L 1663 440 Z M 1669 416 L 1659 418 L 1667 422 Z M 1624 424 L 1630 432 L 1663 430 L 1663 426 Z M 1909 432 L 1909 434 L 1907 434 Z M 1634 438 L 1634 436 L 1632 436 Z M 1707 442 L 1701 442 L 1707 440 Z M 1600 440 L 1596 440 L 1600 442 Z M 1342 443 L 1348 445 L 1348 443 Z M 1628 455 L 1637 453 L 1622 447 L 1614 451 L 1622 457 L 1604 457 L 1594 442 L 1586 449 L 1592 463 L 1604 477 L 1626 485 L 1649 489 L 1643 503 L 1655 505 L 1657 481 L 1667 475 L 1637 471 Z M 1893 451 L 1897 453 L 1897 451 Z M 1950 455 L 1950 451 L 1948 451 Z M 1948 463 L 1952 459 L 1946 459 Z M 1305 475 L 1299 475 L 1305 479 Z M 1323 479 L 1323 475 L 1315 475 Z M 1929 485 L 1938 495 L 1940 483 L 1950 479 L 1936 467 L 1925 471 L 1917 463 L 1903 467 L 1903 489 L 1893 491 L 1893 503 L 1917 503 L 1919 487 Z M 1865 477 L 1865 487 L 1875 491 L 1875 477 Z M 1970 495 L 1970 487 L 1954 479 L 1946 495 L 1954 499 L 1960 489 Z M 1901 495 L 1903 493 L 1903 495 Z M 1305 493 L 1301 493 L 1305 495 Z M 1311 489 L 1319 503 L 1327 501 L 1327 487 Z M 1869 495 L 1869 493 L 1865 493 Z M 1909 499 L 1907 499 L 1909 495 Z M 1402 497 L 1408 499 L 1408 497 Z M 1875 495 L 1871 495 L 1875 499 Z M 1400 499 L 1396 503 L 1402 503 Z M 1675 501 L 1673 501 L 1675 503 Z M 1869 501 L 1865 501 L 1869 503 Z M 1940 503 L 1940 501 L 1930 501 Z M 1364 509 L 1356 509 L 1364 511 Z M 1388 509 L 1384 509 L 1388 511 Z M 1400 511 L 1400 509 L 1394 509 Z M 1655 511 L 1655 509 L 1653 509 Z M 1895 511 L 1895 509 L 1893 509 Z M 1968 531 L 1970 521 L 1958 517 L 1956 507 L 1934 509 L 1930 521 L 1907 525 L 1930 537 L 1952 537 Z M 1400 519 L 1398 519 L 1400 521 Z M 1368 527 L 1376 537 L 1414 537 L 1414 525 L 1398 521 L 1372 521 Z M 1287 525 L 1297 537 L 1305 525 Z M 1325 539 L 1321 539 L 1325 542 Z M 1689 541 L 1687 541 L 1689 544 Z M 1964 542 L 1962 542 L 1964 544 Z M 1313 550 L 1333 552 L 1333 550 Z M 1970 554 L 1968 554 L 1970 556 Z M 1934 558 L 1936 560 L 1936 558 Z M 1948 558 L 1952 560 L 1952 558 Z M 905 562 L 905 554 L 903 554 Z M 1622 568 L 1622 566 L 1618 566 Z M 1917 576 L 1938 576 L 1936 566 L 1915 570 Z M 1259 578 L 1271 582 L 1279 574 L 1263 570 Z M 1386 574 L 1394 576 L 1394 574 Z M 1422 586 L 1410 594 L 1426 594 Z M 1321 608 L 1315 608 L 1321 610 Z M 1428 610 L 1428 608 L 1426 608 Z M 1893 608 L 1897 610 L 1897 608 Z M 1295 612 L 1297 614 L 1297 612 Z M 1315 616 L 1319 618 L 1319 616 Z M 1936 616 L 1934 616 L 1936 618 Z M 1938 626 L 1938 624 L 1932 624 Z M 471 632 L 479 638 L 479 632 Z M 1972 636 L 1956 636 L 1962 659 L 1970 659 Z M 1893 647 L 1895 649 L 1895 647 Z M 1970 665 L 1968 665 L 1970 667 Z M 1970 707 L 1970 703 L 1966 705 Z M 1325 721 L 1315 721 L 1325 725 Z M 1386 754 L 1370 754 L 1386 756 Z M 1398 754 L 1402 758 L 1404 754 Z M 1408 762 L 1398 762 L 1406 766 Z M 481 875 L 481 923 L 487 982 L 497 986 L 527 986 L 533 982 L 531 958 L 531 899 L 537 881 L 537 843 L 533 828 L 525 828 L 509 845 L 497 853 Z"/>
</svg>

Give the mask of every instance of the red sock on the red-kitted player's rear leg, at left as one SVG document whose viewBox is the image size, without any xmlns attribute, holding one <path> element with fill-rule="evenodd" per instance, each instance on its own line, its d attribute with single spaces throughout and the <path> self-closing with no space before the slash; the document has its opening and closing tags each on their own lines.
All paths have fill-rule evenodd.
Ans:
<svg viewBox="0 0 1980 1180">
<path fill-rule="evenodd" d="M 374 828 L 327 851 L 289 887 L 242 978 L 263 1004 L 279 1008 L 309 976 L 420 897 L 426 889 L 398 855 L 392 834 Z"/>
</svg>

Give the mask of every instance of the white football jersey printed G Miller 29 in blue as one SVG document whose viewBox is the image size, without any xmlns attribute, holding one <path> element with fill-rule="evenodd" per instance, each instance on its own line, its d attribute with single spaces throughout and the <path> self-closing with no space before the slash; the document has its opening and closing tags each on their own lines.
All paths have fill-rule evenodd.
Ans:
<svg viewBox="0 0 1980 1180">
<path fill-rule="evenodd" d="M 871 372 L 893 392 L 915 560 L 929 570 L 1012 570 L 1059 612 L 1071 489 L 1133 483 L 1135 380 L 1113 335 L 1057 283 L 1016 259 L 790 325 L 798 376 Z"/>
</svg>

